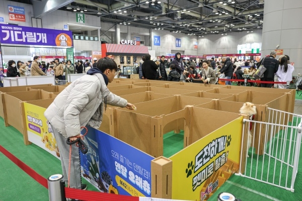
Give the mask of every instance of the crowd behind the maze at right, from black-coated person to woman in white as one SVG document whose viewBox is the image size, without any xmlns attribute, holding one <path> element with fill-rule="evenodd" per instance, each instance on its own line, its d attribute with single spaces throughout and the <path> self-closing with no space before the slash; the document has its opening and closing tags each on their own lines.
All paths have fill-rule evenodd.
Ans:
<svg viewBox="0 0 302 201">
<path fill-rule="evenodd" d="M 201 60 L 198 64 L 193 60 L 181 58 L 181 53 L 176 53 L 174 59 L 166 60 L 161 56 L 160 61 L 153 61 L 149 54 L 142 57 L 139 65 L 140 79 L 157 79 L 167 81 L 183 81 L 188 79 L 201 79 L 203 83 L 218 83 L 218 77 L 224 79 L 244 79 L 244 74 L 249 75 L 249 79 L 254 79 L 254 75 L 260 65 L 265 66 L 261 81 L 287 82 L 292 80 L 294 67 L 290 65 L 287 55 L 280 55 L 276 59 L 276 52 L 272 51 L 270 55 L 263 57 L 259 62 L 247 60 L 242 62 L 235 59 L 234 63 L 229 57 L 222 57 L 219 62 L 214 58 L 211 60 Z M 244 67 L 242 67 L 244 66 Z M 170 68 L 169 70 L 166 70 Z M 167 73 L 167 71 L 169 73 Z M 226 80 L 219 83 L 231 85 L 232 81 Z M 237 82 L 241 85 L 241 82 Z M 261 83 L 261 87 L 272 87 L 273 83 Z M 276 84 L 275 87 L 286 88 L 286 84 Z"/>
</svg>

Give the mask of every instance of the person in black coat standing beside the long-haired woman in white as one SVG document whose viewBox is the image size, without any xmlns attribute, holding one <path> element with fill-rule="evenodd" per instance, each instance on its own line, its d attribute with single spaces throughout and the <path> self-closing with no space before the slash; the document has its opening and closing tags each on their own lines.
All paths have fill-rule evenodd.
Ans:
<svg viewBox="0 0 302 201">
<path fill-rule="evenodd" d="M 266 71 L 264 72 L 261 81 L 274 81 L 275 73 L 279 69 L 279 61 L 275 59 L 275 57 L 276 57 L 276 52 L 272 51 L 269 57 L 262 58 L 261 61 L 259 61 L 259 63 L 257 64 L 257 69 L 258 69 L 264 59 L 263 65 L 266 68 Z M 261 83 L 260 86 L 271 88 L 273 84 Z"/>
</svg>

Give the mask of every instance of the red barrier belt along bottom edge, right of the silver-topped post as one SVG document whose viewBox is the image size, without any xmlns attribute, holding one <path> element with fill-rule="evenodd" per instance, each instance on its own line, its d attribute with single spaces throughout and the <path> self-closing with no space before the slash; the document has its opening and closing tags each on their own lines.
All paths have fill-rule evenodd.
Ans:
<svg viewBox="0 0 302 201">
<path fill-rule="evenodd" d="M 105 192 L 81 190 L 81 189 L 67 188 L 67 187 L 65 187 L 65 196 L 72 199 L 80 199 L 86 201 L 99 201 L 99 200 L 138 201 L 139 200 L 139 197 L 134 197 L 134 196 L 117 195 L 117 194 L 110 194 Z"/>
</svg>

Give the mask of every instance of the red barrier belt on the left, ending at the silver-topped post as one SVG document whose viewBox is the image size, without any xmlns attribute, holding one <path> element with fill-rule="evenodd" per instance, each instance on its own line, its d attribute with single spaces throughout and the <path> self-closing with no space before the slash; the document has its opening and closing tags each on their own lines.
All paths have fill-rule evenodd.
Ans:
<svg viewBox="0 0 302 201">
<path fill-rule="evenodd" d="M 3 146 L 0 145 L 0 152 L 2 152 L 6 157 L 8 157 L 11 161 L 13 161 L 18 167 L 20 167 L 23 171 L 25 171 L 29 176 L 38 181 L 45 188 L 48 188 L 47 179 L 38 174 L 35 170 L 29 167 L 27 164 L 22 162 L 19 158 L 14 156 L 11 152 L 6 150 Z"/>
</svg>

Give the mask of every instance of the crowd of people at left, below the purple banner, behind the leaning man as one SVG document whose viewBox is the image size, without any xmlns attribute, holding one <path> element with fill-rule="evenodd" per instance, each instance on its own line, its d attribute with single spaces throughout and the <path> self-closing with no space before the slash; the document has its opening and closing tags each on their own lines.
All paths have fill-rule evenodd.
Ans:
<svg viewBox="0 0 302 201">
<path fill-rule="evenodd" d="M 18 61 L 17 64 L 14 60 L 8 61 L 6 77 L 25 77 L 25 76 L 41 76 L 41 75 L 54 75 L 56 79 L 67 80 L 68 74 L 85 73 L 92 67 L 96 67 L 97 58 L 94 58 L 94 63 L 91 65 L 87 59 L 85 63 L 78 60 L 72 64 L 71 60 L 60 61 L 58 58 L 53 61 L 45 63 L 40 61 L 39 56 L 34 56 L 33 61 L 22 62 Z"/>
</svg>

